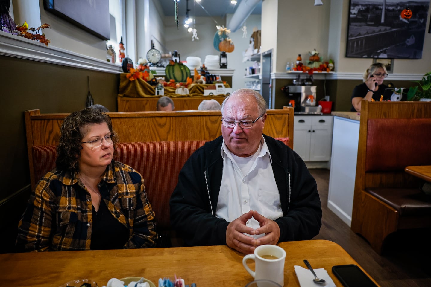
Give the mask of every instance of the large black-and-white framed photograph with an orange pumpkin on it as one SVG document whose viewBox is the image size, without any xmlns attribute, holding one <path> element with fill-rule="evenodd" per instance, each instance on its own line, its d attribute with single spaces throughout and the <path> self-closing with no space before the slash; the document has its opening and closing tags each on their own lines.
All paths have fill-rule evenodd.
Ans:
<svg viewBox="0 0 431 287">
<path fill-rule="evenodd" d="M 421 59 L 429 4 L 350 0 L 346 57 Z"/>
</svg>

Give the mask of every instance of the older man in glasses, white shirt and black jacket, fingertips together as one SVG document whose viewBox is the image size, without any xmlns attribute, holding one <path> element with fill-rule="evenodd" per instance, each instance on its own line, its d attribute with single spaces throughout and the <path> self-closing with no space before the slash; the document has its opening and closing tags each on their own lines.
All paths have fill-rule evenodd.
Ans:
<svg viewBox="0 0 431 287">
<path fill-rule="evenodd" d="M 263 134 L 266 116 L 265 100 L 252 89 L 223 101 L 222 136 L 191 155 L 170 200 L 185 244 L 253 253 L 319 233 L 316 182 L 294 151 Z"/>
</svg>

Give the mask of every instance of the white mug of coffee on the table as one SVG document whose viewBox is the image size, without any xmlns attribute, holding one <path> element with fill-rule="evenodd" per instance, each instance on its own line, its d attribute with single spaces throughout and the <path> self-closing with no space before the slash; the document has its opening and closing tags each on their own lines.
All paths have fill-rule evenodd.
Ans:
<svg viewBox="0 0 431 287">
<path fill-rule="evenodd" d="M 256 262 L 255 271 L 247 266 L 247 260 Z M 243 258 L 244 268 L 253 276 L 254 280 L 269 279 L 284 285 L 284 261 L 286 251 L 277 245 L 261 245 L 256 247 L 254 254 L 248 254 Z"/>
</svg>

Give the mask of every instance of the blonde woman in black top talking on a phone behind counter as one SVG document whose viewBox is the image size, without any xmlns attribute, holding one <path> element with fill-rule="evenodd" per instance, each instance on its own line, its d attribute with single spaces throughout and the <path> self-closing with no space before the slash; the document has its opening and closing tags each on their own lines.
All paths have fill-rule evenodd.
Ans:
<svg viewBox="0 0 431 287">
<path fill-rule="evenodd" d="M 364 82 L 353 89 L 350 111 L 360 112 L 362 100 L 387 101 L 389 98 L 384 93 L 387 86 L 383 84 L 385 77 L 387 77 L 386 67 L 381 63 L 372 64 L 364 73 Z"/>
</svg>

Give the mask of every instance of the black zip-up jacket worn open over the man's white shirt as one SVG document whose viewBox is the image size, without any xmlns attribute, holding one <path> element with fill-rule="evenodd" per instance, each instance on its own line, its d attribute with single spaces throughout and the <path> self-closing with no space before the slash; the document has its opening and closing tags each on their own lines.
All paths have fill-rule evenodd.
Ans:
<svg viewBox="0 0 431 287">
<path fill-rule="evenodd" d="M 283 142 L 265 136 L 284 216 L 275 219 L 281 241 L 319 234 L 322 207 L 317 185 L 303 160 Z M 229 222 L 215 217 L 222 182 L 222 136 L 197 149 L 184 164 L 169 201 L 171 224 L 185 244 L 225 245 Z M 244 211 L 245 212 L 245 211 Z"/>
</svg>

